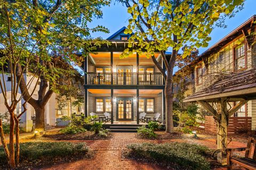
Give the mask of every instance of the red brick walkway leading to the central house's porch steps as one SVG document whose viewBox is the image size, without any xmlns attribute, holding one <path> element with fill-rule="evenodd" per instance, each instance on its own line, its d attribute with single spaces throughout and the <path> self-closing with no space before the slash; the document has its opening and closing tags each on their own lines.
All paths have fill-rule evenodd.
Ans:
<svg viewBox="0 0 256 170">
<path fill-rule="evenodd" d="M 167 169 L 166 167 L 150 164 L 141 163 L 135 160 L 123 159 L 121 158 L 122 149 L 125 149 L 126 145 L 129 143 L 141 143 L 141 142 L 151 142 L 151 143 L 163 143 L 163 142 L 189 142 L 198 143 L 205 145 L 209 148 L 215 149 L 215 140 L 139 140 L 135 138 L 135 133 L 114 133 L 114 137 L 110 140 L 86 140 L 87 145 L 96 151 L 93 159 L 79 160 L 77 162 L 63 163 L 60 165 L 53 165 L 51 167 L 43 169 L 68 169 L 68 170 L 79 170 L 79 169 Z M 73 142 L 81 142 L 73 141 Z M 244 147 L 243 143 L 231 142 L 229 147 Z M 225 169 L 225 168 L 223 168 Z"/>
</svg>

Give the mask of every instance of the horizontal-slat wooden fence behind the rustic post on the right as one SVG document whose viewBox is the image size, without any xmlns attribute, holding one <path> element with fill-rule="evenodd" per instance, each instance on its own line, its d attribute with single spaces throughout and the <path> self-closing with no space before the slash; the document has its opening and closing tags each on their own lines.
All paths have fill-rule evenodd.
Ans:
<svg viewBox="0 0 256 170">
<path fill-rule="evenodd" d="M 252 130 L 252 117 L 230 117 L 228 135 L 249 133 Z M 217 125 L 213 116 L 205 116 L 205 131 L 217 133 Z"/>
</svg>

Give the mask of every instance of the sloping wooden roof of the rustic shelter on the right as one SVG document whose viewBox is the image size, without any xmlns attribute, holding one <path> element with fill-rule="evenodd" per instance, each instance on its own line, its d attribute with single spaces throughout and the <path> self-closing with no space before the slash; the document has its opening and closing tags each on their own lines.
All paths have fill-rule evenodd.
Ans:
<svg viewBox="0 0 256 170">
<path fill-rule="evenodd" d="M 256 69 L 227 75 L 222 80 L 214 82 L 210 87 L 186 97 L 183 101 L 219 100 L 220 97 L 230 97 L 234 101 L 241 98 L 256 99 Z"/>
</svg>

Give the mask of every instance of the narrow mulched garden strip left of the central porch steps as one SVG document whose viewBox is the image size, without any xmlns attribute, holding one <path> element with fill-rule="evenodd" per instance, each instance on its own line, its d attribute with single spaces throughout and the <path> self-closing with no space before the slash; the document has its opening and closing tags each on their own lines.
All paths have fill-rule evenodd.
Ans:
<svg viewBox="0 0 256 170">
<path fill-rule="evenodd" d="M 76 134 L 65 134 L 65 133 L 57 133 L 57 134 L 44 134 L 43 138 L 53 139 L 53 140 L 101 140 L 101 139 L 110 139 L 113 137 L 113 134 L 110 132 L 107 135 L 94 134 L 94 132 L 86 131 L 82 133 Z"/>
</svg>

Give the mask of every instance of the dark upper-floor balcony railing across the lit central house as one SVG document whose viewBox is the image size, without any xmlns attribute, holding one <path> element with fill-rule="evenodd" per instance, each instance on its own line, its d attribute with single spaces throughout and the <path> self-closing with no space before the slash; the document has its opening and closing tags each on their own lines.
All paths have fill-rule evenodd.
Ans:
<svg viewBox="0 0 256 170">
<path fill-rule="evenodd" d="M 163 85 L 161 73 L 87 73 L 87 80 L 89 85 Z"/>
</svg>

